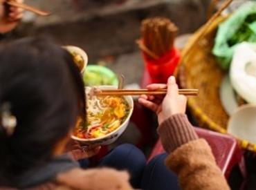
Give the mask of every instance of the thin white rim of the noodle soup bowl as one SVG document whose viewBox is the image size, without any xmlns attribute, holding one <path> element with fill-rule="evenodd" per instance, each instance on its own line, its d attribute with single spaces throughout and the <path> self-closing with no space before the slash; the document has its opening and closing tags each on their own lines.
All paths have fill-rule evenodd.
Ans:
<svg viewBox="0 0 256 190">
<path fill-rule="evenodd" d="M 91 88 L 90 86 L 86 86 L 85 88 Z M 101 85 L 101 86 L 94 86 L 94 87 L 98 87 L 98 88 L 109 88 L 109 87 L 111 87 L 111 88 L 113 88 L 113 89 L 117 89 L 117 86 L 111 86 L 111 85 Z M 111 88 L 109 88 L 109 89 L 111 89 Z M 131 95 L 125 95 L 125 96 L 123 96 L 123 97 L 125 97 L 126 99 L 130 99 L 130 101 L 131 101 L 131 109 L 130 109 L 130 111 L 129 111 L 129 115 L 127 116 L 127 118 L 126 118 L 126 120 L 125 120 L 125 122 L 129 122 L 129 120 L 130 120 L 130 118 L 131 118 L 131 115 L 132 115 L 132 113 L 134 112 L 134 99 L 131 97 Z M 73 140 L 77 140 L 77 141 L 80 141 L 80 142 L 94 142 L 94 141 L 98 141 L 98 140 L 103 140 L 104 138 L 107 138 L 107 137 L 109 137 L 109 136 L 111 136 L 111 135 L 113 135 L 113 133 L 116 133 L 116 131 L 118 131 L 120 128 L 121 128 L 121 126 L 123 125 L 123 124 L 125 124 L 125 122 L 123 122 L 117 129 L 115 129 L 114 131 L 111 131 L 111 133 L 108 133 L 107 135 L 105 135 L 105 136 L 103 136 L 103 137 L 98 137 L 98 138 L 90 138 L 90 139 L 82 139 L 82 138 L 80 138 L 80 137 L 76 137 L 75 135 L 71 135 L 71 138 L 73 139 Z"/>
</svg>

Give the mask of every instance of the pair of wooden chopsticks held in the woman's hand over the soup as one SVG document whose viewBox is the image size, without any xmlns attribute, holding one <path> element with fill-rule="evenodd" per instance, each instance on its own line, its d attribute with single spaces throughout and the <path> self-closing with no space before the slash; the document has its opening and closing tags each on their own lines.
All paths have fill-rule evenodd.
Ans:
<svg viewBox="0 0 256 190">
<path fill-rule="evenodd" d="M 167 89 L 159 89 L 156 91 L 149 91 L 147 89 L 95 89 L 95 95 L 165 95 Z M 180 95 L 196 96 L 198 95 L 198 89 L 180 89 Z"/>
</svg>

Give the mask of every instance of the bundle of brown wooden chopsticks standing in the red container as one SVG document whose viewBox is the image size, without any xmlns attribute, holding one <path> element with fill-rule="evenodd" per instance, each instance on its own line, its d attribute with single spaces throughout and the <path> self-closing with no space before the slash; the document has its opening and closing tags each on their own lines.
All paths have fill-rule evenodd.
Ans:
<svg viewBox="0 0 256 190">
<path fill-rule="evenodd" d="M 158 59 L 173 48 L 178 28 L 170 19 L 155 17 L 143 20 L 140 30 L 139 48 L 149 57 Z"/>
</svg>

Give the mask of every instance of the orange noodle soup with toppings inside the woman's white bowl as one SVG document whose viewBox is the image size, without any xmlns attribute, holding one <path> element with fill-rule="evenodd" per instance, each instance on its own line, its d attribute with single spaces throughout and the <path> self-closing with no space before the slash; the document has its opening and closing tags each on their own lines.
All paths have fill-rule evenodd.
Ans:
<svg viewBox="0 0 256 190">
<path fill-rule="evenodd" d="M 90 89 L 86 88 L 86 124 L 79 120 L 73 135 L 83 140 L 102 139 L 118 131 L 125 122 L 127 126 L 132 111 L 131 105 L 133 107 L 132 100 L 128 101 L 129 97 L 123 96 L 89 97 Z"/>
</svg>

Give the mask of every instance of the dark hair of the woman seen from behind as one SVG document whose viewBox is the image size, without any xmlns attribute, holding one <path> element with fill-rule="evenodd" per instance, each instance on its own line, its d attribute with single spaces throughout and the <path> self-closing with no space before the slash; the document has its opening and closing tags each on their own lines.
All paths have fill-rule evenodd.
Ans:
<svg viewBox="0 0 256 190">
<path fill-rule="evenodd" d="M 0 120 L 0 185 L 15 186 L 28 169 L 53 157 L 53 146 L 85 114 L 84 84 L 72 56 L 44 38 L 0 49 L 0 108 L 10 104 L 17 126 L 8 135 Z"/>
</svg>

